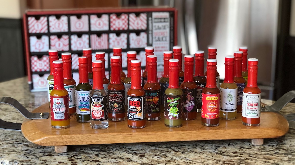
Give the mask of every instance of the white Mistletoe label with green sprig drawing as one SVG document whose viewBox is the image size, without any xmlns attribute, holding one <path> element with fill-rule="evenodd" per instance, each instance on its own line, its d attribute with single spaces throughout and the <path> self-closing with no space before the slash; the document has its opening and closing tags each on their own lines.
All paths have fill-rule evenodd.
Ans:
<svg viewBox="0 0 295 165">
<path fill-rule="evenodd" d="M 235 112 L 237 111 L 237 93 L 236 89 L 220 88 L 220 111 Z"/>
</svg>

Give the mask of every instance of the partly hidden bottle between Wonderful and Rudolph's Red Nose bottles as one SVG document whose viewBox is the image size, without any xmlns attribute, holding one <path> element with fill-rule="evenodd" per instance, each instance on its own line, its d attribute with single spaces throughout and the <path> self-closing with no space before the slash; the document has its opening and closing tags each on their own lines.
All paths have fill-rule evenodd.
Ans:
<svg viewBox="0 0 295 165">
<path fill-rule="evenodd" d="M 127 52 L 127 77 L 124 80 L 125 86 L 125 111 L 127 112 L 128 101 L 127 101 L 127 92 L 131 88 L 131 60 L 136 60 L 136 51 L 128 51 Z"/>
</svg>

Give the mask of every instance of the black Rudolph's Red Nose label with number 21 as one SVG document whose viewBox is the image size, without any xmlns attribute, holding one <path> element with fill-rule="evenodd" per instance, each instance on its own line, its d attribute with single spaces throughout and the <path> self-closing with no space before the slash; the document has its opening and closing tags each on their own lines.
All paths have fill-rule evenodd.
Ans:
<svg viewBox="0 0 295 165">
<path fill-rule="evenodd" d="M 128 119 L 129 120 L 145 120 L 145 96 L 129 96 L 128 97 Z"/>
</svg>

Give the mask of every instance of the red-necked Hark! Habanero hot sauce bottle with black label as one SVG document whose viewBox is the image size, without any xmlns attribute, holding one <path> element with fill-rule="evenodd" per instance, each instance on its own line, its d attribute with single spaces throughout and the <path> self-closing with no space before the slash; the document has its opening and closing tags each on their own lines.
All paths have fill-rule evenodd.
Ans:
<svg viewBox="0 0 295 165">
<path fill-rule="evenodd" d="M 143 86 L 146 98 L 146 119 L 155 121 L 161 119 L 160 111 L 160 90 L 161 86 L 157 81 L 157 56 L 147 57 L 148 64 L 145 66 L 148 70 L 148 81 Z"/>
</svg>

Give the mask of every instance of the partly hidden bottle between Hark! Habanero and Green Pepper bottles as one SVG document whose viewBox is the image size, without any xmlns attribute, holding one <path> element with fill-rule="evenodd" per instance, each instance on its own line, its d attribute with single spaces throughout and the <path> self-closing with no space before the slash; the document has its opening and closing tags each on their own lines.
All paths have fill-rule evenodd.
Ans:
<svg viewBox="0 0 295 165">
<path fill-rule="evenodd" d="M 160 94 L 160 110 L 164 113 L 164 94 L 169 86 L 169 60 L 172 59 L 172 51 L 164 51 L 164 74 L 160 79 L 161 94 Z"/>
</svg>

